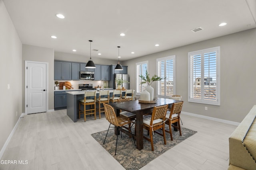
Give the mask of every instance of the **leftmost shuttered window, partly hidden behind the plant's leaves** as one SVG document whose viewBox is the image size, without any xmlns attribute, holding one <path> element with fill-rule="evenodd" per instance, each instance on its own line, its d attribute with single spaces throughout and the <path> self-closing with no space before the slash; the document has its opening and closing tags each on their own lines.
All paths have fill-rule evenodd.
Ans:
<svg viewBox="0 0 256 170">
<path fill-rule="evenodd" d="M 140 84 L 142 82 L 139 75 L 145 76 L 146 70 L 148 71 L 148 61 L 136 63 L 136 95 L 140 96 L 142 90 L 147 87 L 147 84 Z"/>
</svg>

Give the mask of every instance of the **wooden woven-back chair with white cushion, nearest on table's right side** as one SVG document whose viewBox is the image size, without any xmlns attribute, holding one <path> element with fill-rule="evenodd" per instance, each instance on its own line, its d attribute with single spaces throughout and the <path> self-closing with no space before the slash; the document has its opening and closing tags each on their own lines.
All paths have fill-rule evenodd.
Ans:
<svg viewBox="0 0 256 170">
<path fill-rule="evenodd" d="M 150 135 L 150 138 L 145 136 L 143 136 L 143 138 L 150 141 L 152 151 L 154 151 L 153 135 L 154 135 L 154 131 L 157 133 L 156 131 L 157 129 L 162 129 L 162 136 L 164 137 L 164 145 L 166 145 L 164 125 L 165 125 L 165 116 L 166 116 L 167 108 L 168 108 L 168 104 L 164 106 L 154 106 L 152 115 L 143 116 L 143 128 L 148 130 Z M 136 129 L 136 124 L 135 124 L 135 129 Z"/>
</svg>

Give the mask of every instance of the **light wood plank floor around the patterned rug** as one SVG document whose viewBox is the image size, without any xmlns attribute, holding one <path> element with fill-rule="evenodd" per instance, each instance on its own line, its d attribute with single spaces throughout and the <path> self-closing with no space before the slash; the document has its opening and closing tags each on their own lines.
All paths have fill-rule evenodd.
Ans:
<svg viewBox="0 0 256 170">
<path fill-rule="evenodd" d="M 0 170 L 124 169 L 90 135 L 108 129 L 105 116 L 96 120 L 88 116 L 86 120 L 74 123 L 66 110 L 25 115 L 1 160 L 27 160 L 28 164 L 0 164 Z M 182 115 L 182 122 L 183 127 L 198 133 L 141 170 L 226 170 L 228 137 L 236 126 L 188 115 Z"/>
</svg>

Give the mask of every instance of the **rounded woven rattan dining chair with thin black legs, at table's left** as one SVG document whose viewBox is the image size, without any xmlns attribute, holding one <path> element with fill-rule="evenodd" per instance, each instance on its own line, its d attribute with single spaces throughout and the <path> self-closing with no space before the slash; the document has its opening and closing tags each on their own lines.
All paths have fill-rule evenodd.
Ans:
<svg viewBox="0 0 256 170">
<path fill-rule="evenodd" d="M 112 106 L 105 104 L 105 103 L 103 104 L 103 106 L 105 109 L 106 119 L 110 123 L 108 130 L 110 128 L 110 125 L 114 125 L 114 127 L 117 127 L 117 131 L 119 131 L 119 130 L 121 131 L 121 137 L 122 137 L 122 127 L 125 127 L 125 125 L 128 125 L 129 123 L 132 123 L 132 121 L 129 121 L 128 119 L 125 119 L 124 117 L 121 117 L 121 116 L 116 116 L 116 113 Z M 129 127 L 125 127 L 125 128 L 129 129 Z M 129 133 L 130 133 L 130 131 L 131 131 L 131 129 L 129 129 Z M 107 131 L 106 137 L 107 137 L 107 135 L 108 135 L 108 131 Z M 133 136 L 134 135 L 132 134 L 132 139 L 133 139 L 134 145 L 136 146 Z M 106 137 L 104 139 L 103 144 L 105 144 Z M 118 135 L 116 135 L 116 148 L 117 148 L 117 140 L 118 140 Z M 115 150 L 115 155 L 116 155 L 116 150 Z"/>
</svg>

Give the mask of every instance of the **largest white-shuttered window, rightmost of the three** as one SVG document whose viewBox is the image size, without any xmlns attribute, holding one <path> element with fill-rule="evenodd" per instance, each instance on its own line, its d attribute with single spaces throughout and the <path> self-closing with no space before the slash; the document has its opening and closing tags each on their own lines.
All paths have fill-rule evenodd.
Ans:
<svg viewBox="0 0 256 170">
<path fill-rule="evenodd" d="M 220 105 L 220 47 L 188 53 L 188 102 Z"/>
</svg>

